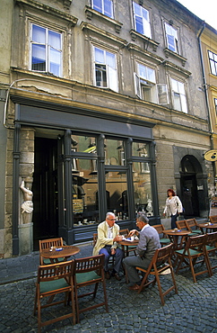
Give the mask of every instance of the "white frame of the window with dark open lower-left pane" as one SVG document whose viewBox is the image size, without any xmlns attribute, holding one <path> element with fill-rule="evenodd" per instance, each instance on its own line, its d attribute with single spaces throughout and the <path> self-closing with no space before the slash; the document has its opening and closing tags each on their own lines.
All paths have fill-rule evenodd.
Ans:
<svg viewBox="0 0 217 333">
<path fill-rule="evenodd" d="M 93 58 L 94 58 L 94 66 L 93 66 L 93 77 L 94 77 L 94 85 L 101 87 L 101 88 L 109 88 L 111 90 L 114 90 L 115 92 L 118 92 L 118 80 L 117 80 L 117 54 L 110 52 L 106 49 L 100 49 L 103 51 L 103 57 L 104 61 L 102 63 L 97 62 L 95 60 L 95 49 L 100 49 L 99 47 L 93 46 Z M 109 64 L 107 64 L 106 60 L 106 54 L 112 54 L 115 56 L 115 66 L 116 67 L 111 67 Z M 106 81 L 107 85 L 106 86 L 101 86 L 97 85 L 97 80 L 96 80 L 96 65 L 100 65 L 102 67 L 105 67 L 105 73 L 106 73 Z"/>
</svg>

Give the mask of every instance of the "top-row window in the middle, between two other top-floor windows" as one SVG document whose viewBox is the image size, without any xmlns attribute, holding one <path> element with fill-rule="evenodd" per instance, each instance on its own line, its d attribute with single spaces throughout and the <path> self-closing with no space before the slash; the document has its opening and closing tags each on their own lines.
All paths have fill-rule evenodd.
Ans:
<svg viewBox="0 0 217 333">
<path fill-rule="evenodd" d="M 152 38 L 149 12 L 140 4 L 133 2 L 135 31 Z"/>
</svg>

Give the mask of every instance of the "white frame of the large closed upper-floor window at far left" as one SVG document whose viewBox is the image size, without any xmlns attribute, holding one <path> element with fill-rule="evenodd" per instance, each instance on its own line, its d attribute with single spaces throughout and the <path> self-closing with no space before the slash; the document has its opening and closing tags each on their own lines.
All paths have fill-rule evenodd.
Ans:
<svg viewBox="0 0 217 333">
<path fill-rule="evenodd" d="M 37 42 L 37 41 L 33 40 L 33 38 L 32 38 L 32 36 L 33 36 L 33 26 L 36 26 L 36 27 L 39 27 L 39 28 L 45 30 L 45 42 L 44 43 L 40 43 L 40 42 Z M 59 35 L 59 37 L 60 37 L 60 49 L 56 49 L 54 47 L 54 45 L 52 45 L 52 46 L 49 45 L 49 43 L 48 43 L 48 32 L 49 31 L 55 32 L 56 34 Z M 33 67 L 32 48 L 33 48 L 34 45 L 45 46 L 45 64 L 46 64 L 45 70 L 32 69 L 32 67 Z M 50 53 L 51 49 L 55 49 L 59 53 L 59 56 L 60 56 L 60 61 L 59 61 L 59 64 L 58 64 L 58 66 L 59 66 L 58 75 L 56 73 L 54 73 L 50 68 L 51 58 L 52 58 L 51 53 Z M 55 76 L 62 76 L 63 75 L 63 38 L 62 38 L 62 33 L 58 32 L 58 31 L 54 31 L 54 30 L 49 29 L 47 27 L 41 26 L 37 23 L 30 23 L 30 70 L 36 71 L 36 72 L 42 72 L 42 73 L 50 73 L 50 74 L 55 75 Z"/>
</svg>

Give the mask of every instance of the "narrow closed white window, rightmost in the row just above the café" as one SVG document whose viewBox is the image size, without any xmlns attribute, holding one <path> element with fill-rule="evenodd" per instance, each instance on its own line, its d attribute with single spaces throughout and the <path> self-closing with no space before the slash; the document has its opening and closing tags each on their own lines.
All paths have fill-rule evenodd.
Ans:
<svg viewBox="0 0 217 333">
<path fill-rule="evenodd" d="M 184 83 L 171 78 L 171 87 L 174 109 L 187 113 L 187 97 Z"/>
</svg>

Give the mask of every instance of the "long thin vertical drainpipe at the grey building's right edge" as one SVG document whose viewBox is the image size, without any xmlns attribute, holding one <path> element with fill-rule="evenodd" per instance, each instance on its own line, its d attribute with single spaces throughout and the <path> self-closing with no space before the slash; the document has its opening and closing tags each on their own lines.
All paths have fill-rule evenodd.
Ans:
<svg viewBox="0 0 217 333">
<path fill-rule="evenodd" d="M 204 81 L 204 95 L 205 95 L 205 104 L 206 104 L 206 109 L 208 112 L 208 125 L 209 125 L 209 132 L 210 132 L 210 143 L 211 143 L 211 149 L 213 149 L 213 122 L 212 122 L 212 117 L 210 114 L 210 106 L 209 106 L 209 100 L 208 100 L 208 94 L 207 94 L 207 84 L 206 84 L 206 79 L 205 79 L 205 71 L 204 71 L 204 58 L 203 58 L 203 53 L 202 53 L 202 47 L 201 47 L 201 40 L 200 37 L 204 31 L 205 28 L 205 22 L 203 22 L 203 26 L 201 30 L 199 31 L 197 40 L 198 40 L 198 45 L 199 45 L 199 53 L 200 53 L 200 59 L 201 59 L 201 67 L 202 67 L 202 73 L 203 73 L 203 81 Z M 213 175 L 214 175 L 214 192 L 215 191 L 215 175 L 216 175 L 216 166 L 215 162 L 212 162 L 213 164 Z M 216 193 L 214 193 L 215 195 Z"/>
</svg>

